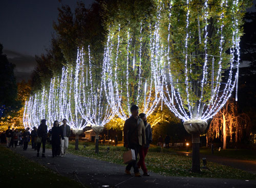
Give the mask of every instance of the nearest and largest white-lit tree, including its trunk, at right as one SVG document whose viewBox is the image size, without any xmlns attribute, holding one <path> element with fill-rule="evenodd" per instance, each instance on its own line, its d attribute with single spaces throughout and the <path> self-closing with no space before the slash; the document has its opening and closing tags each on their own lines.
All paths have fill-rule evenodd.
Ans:
<svg viewBox="0 0 256 188">
<path fill-rule="evenodd" d="M 200 172 L 200 134 L 234 89 L 238 93 L 242 19 L 249 1 L 157 1 L 162 97 L 192 135 Z M 237 94 L 236 94 L 237 100 Z"/>
</svg>

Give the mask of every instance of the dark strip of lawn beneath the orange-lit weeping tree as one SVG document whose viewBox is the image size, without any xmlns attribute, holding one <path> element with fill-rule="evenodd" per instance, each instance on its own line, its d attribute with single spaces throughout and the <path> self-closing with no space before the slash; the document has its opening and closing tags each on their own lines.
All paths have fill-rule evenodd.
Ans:
<svg viewBox="0 0 256 188">
<path fill-rule="evenodd" d="M 200 148 L 200 153 L 211 155 L 211 150 L 206 147 Z M 242 160 L 254 160 L 256 161 L 256 150 L 249 149 L 221 149 L 220 151 L 215 150 L 214 155 L 236 158 Z"/>
</svg>

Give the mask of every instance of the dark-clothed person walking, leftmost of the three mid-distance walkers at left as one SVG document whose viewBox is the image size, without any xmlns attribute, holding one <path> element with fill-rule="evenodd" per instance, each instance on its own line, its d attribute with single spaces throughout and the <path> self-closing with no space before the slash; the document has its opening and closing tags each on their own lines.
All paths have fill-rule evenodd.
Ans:
<svg viewBox="0 0 256 188">
<path fill-rule="evenodd" d="M 41 124 L 38 126 L 37 129 L 37 136 L 41 138 L 41 142 L 37 143 L 37 154 L 36 156 L 39 157 L 39 151 L 40 151 L 40 147 L 42 144 L 42 157 L 46 157 L 45 156 L 45 152 L 46 152 L 46 140 L 47 140 L 47 125 L 46 125 L 46 120 L 42 119 L 41 120 Z"/>
</svg>

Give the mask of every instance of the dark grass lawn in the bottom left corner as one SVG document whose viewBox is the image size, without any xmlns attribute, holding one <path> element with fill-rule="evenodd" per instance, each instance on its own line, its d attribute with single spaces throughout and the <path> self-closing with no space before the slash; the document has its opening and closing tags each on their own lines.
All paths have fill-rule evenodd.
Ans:
<svg viewBox="0 0 256 188">
<path fill-rule="evenodd" d="M 83 187 L 0 145 L 0 187 Z"/>
</svg>

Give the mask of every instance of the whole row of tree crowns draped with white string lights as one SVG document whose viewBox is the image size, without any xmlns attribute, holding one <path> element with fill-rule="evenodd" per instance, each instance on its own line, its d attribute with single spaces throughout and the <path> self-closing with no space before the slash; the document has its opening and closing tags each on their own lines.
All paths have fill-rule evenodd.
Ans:
<svg viewBox="0 0 256 188">
<path fill-rule="evenodd" d="M 214 116 L 238 82 L 243 2 L 151 3 L 113 13 L 102 61 L 78 48 L 75 66 L 30 96 L 24 125 L 66 118 L 73 128 L 103 126 L 128 118 L 132 104 L 150 115 L 159 102 L 183 121 Z"/>
</svg>

